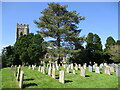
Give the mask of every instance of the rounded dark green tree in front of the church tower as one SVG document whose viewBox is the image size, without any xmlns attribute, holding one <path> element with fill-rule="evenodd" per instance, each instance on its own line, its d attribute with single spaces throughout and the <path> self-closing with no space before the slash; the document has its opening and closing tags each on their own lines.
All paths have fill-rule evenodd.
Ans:
<svg viewBox="0 0 120 90">
<path fill-rule="evenodd" d="M 15 53 L 19 55 L 22 64 L 39 64 L 45 54 L 42 47 L 43 38 L 39 34 L 30 33 L 21 36 L 15 43 Z"/>
</svg>

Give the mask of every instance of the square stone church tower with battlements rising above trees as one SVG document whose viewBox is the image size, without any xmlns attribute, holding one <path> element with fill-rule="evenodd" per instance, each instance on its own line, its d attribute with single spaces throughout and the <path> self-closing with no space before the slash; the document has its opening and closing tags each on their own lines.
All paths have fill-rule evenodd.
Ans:
<svg viewBox="0 0 120 90">
<path fill-rule="evenodd" d="M 18 39 L 21 35 L 27 35 L 27 34 L 29 34 L 29 25 L 17 23 L 16 39 Z"/>
</svg>

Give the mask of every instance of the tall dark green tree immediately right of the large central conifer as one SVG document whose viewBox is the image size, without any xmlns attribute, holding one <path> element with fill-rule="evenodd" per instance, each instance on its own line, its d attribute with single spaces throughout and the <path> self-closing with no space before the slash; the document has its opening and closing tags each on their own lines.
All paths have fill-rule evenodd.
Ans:
<svg viewBox="0 0 120 90">
<path fill-rule="evenodd" d="M 88 33 L 88 36 L 86 37 L 86 62 L 96 62 L 98 64 L 103 62 L 103 53 L 102 53 L 102 44 L 101 39 L 97 34 Z"/>
</svg>

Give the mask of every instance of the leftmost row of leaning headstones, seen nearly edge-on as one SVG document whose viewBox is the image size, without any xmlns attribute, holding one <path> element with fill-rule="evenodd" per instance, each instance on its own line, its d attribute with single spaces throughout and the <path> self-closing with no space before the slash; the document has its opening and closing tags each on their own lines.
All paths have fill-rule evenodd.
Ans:
<svg viewBox="0 0 120 90">
<path fill-rule="evenodd" d="M 18 81 L 19 87 L 23 88 L 23 80 L 24 80 L 24 72 L 21 71 L 21 65 L 19 65 L 17 67 L 17 65 L 15 66 L 11 66 L 11 68 L 14 68 L 14 76 L 16 77 L 16 80 Z"/>
</svg>

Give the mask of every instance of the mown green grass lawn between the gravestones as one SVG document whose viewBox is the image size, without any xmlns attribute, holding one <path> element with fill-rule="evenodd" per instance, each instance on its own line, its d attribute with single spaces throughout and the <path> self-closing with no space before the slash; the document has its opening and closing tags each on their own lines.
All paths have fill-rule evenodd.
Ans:
<svg viewBox="0 0 120 90">
<path fill-rule="evenodd" d="M 80 76 L 80 70 L 76 75 L 72 73 L 65 73 L 65 84 L 59 82 L 59 71 L 56 73 L 56 79 L 38 72 L 22 67 L 24 71 L 24 85 L 23 88 L 118 88 L 118 77 L 114 73 L 112 75 L 97 74 L 95 72 L 88 72 L 87 76 Z M 65 70 L 61 68 L 61 70 Z M 7 81 L 7 82 L 6 82 Z M 2 69 L 2 88 L 18 88 L 17 81 L 10 68 Z"/>
</svg>

